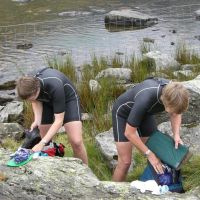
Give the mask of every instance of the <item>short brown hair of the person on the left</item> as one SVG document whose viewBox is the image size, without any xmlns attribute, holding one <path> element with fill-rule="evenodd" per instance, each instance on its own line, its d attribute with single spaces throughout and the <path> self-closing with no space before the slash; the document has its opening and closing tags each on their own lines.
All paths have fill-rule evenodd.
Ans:
<svg viewBox="0 0 200 200">
<path fill-rule="evenodd" d="M 36 77 L 23 76 L 16 84 L 18 96 L 21 99 L 28 99 L 35 95 L 40 88 L 40 81 Z"/>
</svg>

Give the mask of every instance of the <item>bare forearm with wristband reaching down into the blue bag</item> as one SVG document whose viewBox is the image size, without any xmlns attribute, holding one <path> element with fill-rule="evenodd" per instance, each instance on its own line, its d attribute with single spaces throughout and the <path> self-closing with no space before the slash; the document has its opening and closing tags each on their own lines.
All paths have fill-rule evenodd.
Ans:
<svg viewBox="0 0 200 200">
<path fill-rule="evenodd" d="M 139 149 L 143 154 L 145 154 L 145 152 L 148 151 L 148 147 L 142 142 L 140 137 L 137 135 L 136 131 L 137 128 L 126 124 L 125 136 L 129 139 L 131 143 L 133 143 L 134 146 L 136 146 L 137 149 Z M 153 152 L 150 152 L 147 158 L 157 173 L 164 173 L 162 163 Z"/>
</svg>

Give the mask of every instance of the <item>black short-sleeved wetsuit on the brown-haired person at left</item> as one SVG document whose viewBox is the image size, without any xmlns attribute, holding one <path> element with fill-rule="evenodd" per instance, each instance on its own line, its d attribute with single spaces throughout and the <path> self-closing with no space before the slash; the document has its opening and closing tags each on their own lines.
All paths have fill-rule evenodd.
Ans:
<svg viewBox="0 0 200 200">
<path fill-rule="evenodd" d="M 37 100 L 43 104 L 42 124 L 52 124 L 54 114 L 65 112 L 63 124 L 80 121 L 80 101 L 71 81 L 61 72 L 44 68 L 35 75 L 40 81 Z"/>
</svg>

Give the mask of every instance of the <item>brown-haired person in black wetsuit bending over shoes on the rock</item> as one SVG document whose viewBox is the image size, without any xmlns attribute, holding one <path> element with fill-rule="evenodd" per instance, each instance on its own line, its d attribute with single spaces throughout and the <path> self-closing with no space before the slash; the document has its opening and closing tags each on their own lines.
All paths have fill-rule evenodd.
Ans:
<svg viewBox="0 0 200 200">
<path fill-rule="evenodd" d="M 32 103 L 34 122 L 31 130 L 37 126 L 40 129 L 42 140 L 32 150 L 41 151 L 64 126 L 74 156 L 87 164 L 79 97 L 70 80 L 58 70 L 44 68 L 35 76 L 21 77 L 16 89 L 21 99 Z"/>
</svg>

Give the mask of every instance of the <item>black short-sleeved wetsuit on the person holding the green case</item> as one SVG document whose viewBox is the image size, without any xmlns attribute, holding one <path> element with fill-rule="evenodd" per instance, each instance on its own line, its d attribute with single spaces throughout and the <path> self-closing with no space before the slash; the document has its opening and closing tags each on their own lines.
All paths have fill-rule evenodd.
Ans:
<svg viewBox="0 0 200 200">
<path fill-rule="evenodd" d="M 148 137 L 157 130 L 153 114 L 165 110 L 160 96 L 168 83 L 167 79 L 148 78 L 117 98 L 112 110 L 116 142 L 129 141 L 124 135 L 126 123 L 136 127 L 140 137 Z"/>
</svg>

